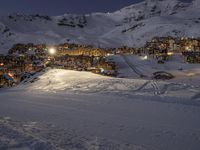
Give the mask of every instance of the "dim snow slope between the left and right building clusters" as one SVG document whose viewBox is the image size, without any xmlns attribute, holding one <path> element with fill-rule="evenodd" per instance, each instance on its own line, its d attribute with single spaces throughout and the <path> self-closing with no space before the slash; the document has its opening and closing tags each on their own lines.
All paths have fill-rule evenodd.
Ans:
<svg viewBox="0 0 200 150">
<path fill-rule="evenodd" d="M 154 72 L 158 71 L 167 71 L 175 76 L 172 79 L 172 82 L 178 82 L 182 84 L 188 84 L 193 86 L 198 86 L 200 84 L 199 75 L 200 75 L 200 65 L 199 64 L 188 64 L 184 62 L 184 58 L 181 54 L 174 54 L 170 57 L 169 61 L 165 62 L 165 64 L 158 64 L 155 59 L 151 56 L 148 56 L 147 60 L 143 60 L 144 56 L 134 56 L 127 55 L 123 57 L 120 56 L 112 56 L 117 65 L 119 66 L 119 77 L 126 78 L 140 78 L 140 75 L 136 74 L 128 64 L 126 60 L 137 68 L 138 72 L 147 77 L 147 79 L 151 79 L 153 77 Z"/>
</svg>

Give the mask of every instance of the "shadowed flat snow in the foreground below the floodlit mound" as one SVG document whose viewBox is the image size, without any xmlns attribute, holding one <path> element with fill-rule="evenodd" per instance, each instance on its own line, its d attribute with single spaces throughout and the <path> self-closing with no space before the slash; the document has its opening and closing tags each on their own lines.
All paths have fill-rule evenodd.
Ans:
<svg viewBox="0 0 200 150">
<path fill-rule="evenodd" d="M 0 133 L 29 148 L 39 144 L 48 149 L 53 144 L 64 149 L 79 149 L 78 145 L 86 149 L 84 145 L 91 141 L 97 146 L 103 143 L 107 149 L 128 149 L 126 145 L 142 150 L 198 149 L 199 107 L 170 103 L 172 99 L 167 97 L 162 97 L 168 99 L 163 103 L 161 97 L 145 100 L 144 96 L 115 94 L 5 91 L 1 93 L 0 114 L 19 121 L 1 124 L 4 132 Z M 66 139 L 72 142 L 68 145 Z"/>
</svg>

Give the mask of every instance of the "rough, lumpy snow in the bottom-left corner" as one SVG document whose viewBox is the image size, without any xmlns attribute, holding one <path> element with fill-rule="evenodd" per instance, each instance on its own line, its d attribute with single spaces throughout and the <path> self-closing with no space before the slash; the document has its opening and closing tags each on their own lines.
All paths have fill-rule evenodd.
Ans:
<svg viewBox="0 0 200 150">
<path fill-rule="evenodd" d="M 119 143 L 106 141 L 105 139 L 82 137 L 77 135 L 73 130 L 62 130 L 52 124 L 38 122 L 22 123 L 5 117 L 0 119 L 0 126 L 0 149 L 140 149 L 139 146 L 120 145 Z"/>
</svg>

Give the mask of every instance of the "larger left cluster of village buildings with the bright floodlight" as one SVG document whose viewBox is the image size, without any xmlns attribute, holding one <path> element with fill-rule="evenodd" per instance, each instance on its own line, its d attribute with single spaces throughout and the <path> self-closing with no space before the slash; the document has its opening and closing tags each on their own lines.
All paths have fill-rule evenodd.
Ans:
<svg viewBox="0 0 200 150">
<path fill-rule="evenodd" d="M 0 55 L 0 87 L 11 87 L 47 67 L 116 76 L 114 62 L 107 52 L 91 46 L 60 44 L 15 44 L 7 55 Z"/>
</svg>

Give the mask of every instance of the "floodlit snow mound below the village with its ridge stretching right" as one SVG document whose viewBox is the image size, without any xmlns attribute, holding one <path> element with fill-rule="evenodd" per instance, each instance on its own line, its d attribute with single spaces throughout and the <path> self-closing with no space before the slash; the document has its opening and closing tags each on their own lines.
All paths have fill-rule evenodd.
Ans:
<svg viewBox="0 0 200 150">
<path fill-rule="evenodd" d="M 62 69 L 46 70 L 43 74 L 33 76 L 22 82 L 15 89 L 50 93 L 101 93 L 121 96 L 169 96 L 173 101 L 183 98 L 182 103 L 193 101 L 199 93 L 199 86 L 178 82 L 164 82 L 146 79 L 123 79 L 96 75 L 90 72 L 78 72 Z M 187 91 L 188 90 L 188 91 Z M 180 94 L 182 93 L 182 94 Z M 184 94 L 183 94 L 184 93 Z M 184 100 L 184 98 L 187 99 Z M 197 96 L 197 99 L 199 96 Z M 196 98 L 194 99 L 194 101 Z"/>
</svg>

